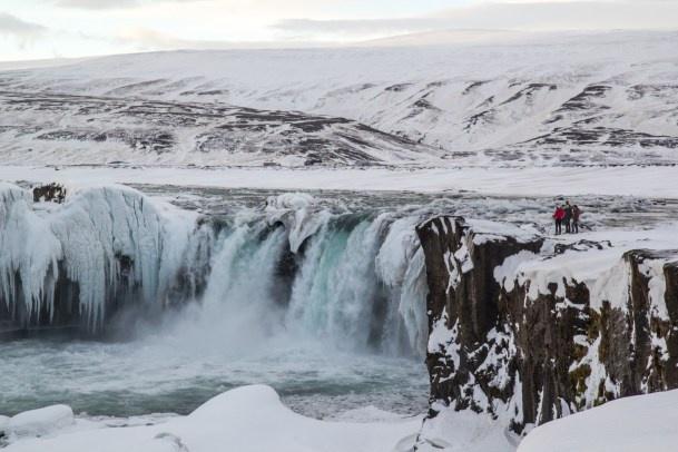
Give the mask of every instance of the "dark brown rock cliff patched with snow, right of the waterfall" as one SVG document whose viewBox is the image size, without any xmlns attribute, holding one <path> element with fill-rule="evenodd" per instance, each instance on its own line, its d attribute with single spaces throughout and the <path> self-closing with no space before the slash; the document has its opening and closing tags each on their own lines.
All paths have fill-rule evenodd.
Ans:
<svg viewBox="0 0 678 452">
<path fill-rule="evenodd" d="M 678 387 L 678 252 L 620 252 L 577 281 L 568 263 L 609 244 L 557 247 L 454 217 L 432 218 L 417 234 L 430 287 L 430 420 L 471 409 L 521 433 Z"/>
</svg>

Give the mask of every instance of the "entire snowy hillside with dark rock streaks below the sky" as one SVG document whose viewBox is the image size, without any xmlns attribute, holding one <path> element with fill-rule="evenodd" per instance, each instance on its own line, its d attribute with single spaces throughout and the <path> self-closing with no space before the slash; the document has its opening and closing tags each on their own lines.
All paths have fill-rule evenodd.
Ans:
<svg viewBox="0 0 678 452">
<path fill-rule="evenodd" d="M 440 46 L 431 45 L 435 36 L 420 39 L 426 46 L 412 38 L 173 51 L 4 70 L 0 153 L 13 163 L 678 163 L 676 32 L 494 33 L 466 43 L 441 36 Z M 255 114 L 265 118 L 229 106 L 265 110 Z M 139 118 L 139 108 L 154 111 Z M 316 127 L 289 125 L 298 121 Z M 82 145 L 92 141 L 90 130 L 106 135 L 106 153 Z"/>
</svg>

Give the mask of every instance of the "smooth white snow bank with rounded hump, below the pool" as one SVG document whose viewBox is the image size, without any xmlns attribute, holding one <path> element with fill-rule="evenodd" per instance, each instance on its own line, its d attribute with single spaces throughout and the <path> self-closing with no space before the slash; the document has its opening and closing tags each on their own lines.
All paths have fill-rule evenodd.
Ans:
<svg viewBox="0 0 678 452">
<path fill-rule="evenodd" d="M 94 445 L 98 452 L 392 452 L 404 438 L 411 441 L 411 448 L 420 425 L 421 419 L 317 421 L 289 411 L 273 389 L 254 385 L 217 395 L 190 415 L 160 425 L 19 440 L 7 452 L 89 452 Z"/>
</svg>

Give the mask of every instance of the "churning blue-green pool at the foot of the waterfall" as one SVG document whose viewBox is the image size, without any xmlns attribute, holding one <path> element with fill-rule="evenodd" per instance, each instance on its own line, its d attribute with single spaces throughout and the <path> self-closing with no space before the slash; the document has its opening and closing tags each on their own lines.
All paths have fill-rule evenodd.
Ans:
<svg viewBox="0 0 678 452">
<path fill-rule="evenodd" d="M 220 392 L 253 383 L 272 385 L 289 407 L 318 419 L 367 405 L 403 414 L 426 406 L 421 360 L 285 341 L 242 354 L 180 342 L 1 343 L 0 414 L 53 403 L 90 415 L 186 414 Z"/>
</svg>

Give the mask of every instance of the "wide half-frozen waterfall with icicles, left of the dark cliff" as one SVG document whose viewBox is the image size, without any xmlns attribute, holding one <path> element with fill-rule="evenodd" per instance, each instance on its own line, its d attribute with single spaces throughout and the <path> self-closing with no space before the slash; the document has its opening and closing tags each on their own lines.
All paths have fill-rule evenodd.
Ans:
<svg viewBox="0 0 678 452">
<path fill-rule="evenodd" d="M 199 216 L 126 187 L 76 190 L 56 205 L 6 185 L 0 202 L 8 250 L 0 321 L 77 322 L 97 332 L 127 308 L 159 316 L 197 306 L 198 334 L 214 328 L 228 343 L 242 331 L 423 352 L 426 286 L 415 214 L 284 194 Z"/>
</svg>

